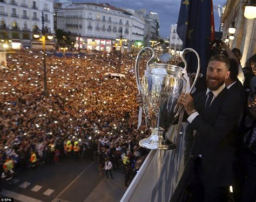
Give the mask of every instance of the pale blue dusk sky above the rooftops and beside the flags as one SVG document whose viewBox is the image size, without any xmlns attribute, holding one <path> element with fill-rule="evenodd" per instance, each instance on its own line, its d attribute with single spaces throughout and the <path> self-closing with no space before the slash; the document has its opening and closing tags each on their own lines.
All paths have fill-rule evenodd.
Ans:
<svg viewBox="0 0 256 202">
<path fill-rule="evenodd" d="M 147 13 L 150 11 L 157 12 L 160 18 L 160 35 L 161 37 L 169 37 L 171 24 L 178 22 L 181 0 L 75 0 L 73 2 L 109 3 L 121 8 L 146 9 Z M 222 8 L 225 2 L 226 0 L 213 0 L 213 5 L 221 5 L 220 8 Z M 214 21 L 215 30 L 218 31 L 220 17 L 217 10 L 214 10 Z"/>
</svg>

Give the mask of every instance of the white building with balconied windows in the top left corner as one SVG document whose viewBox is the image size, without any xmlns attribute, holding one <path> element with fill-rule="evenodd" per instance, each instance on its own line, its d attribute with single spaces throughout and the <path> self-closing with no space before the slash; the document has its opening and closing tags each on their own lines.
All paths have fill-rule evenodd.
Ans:
<svg viewBox="0 0 256 202">
<path fill-rule="evenodd" d="M 12 48 L 38 46 L 33 31 L 42 28 L 42 15 L 45 27 L 53 32 L 53 0 L 1 0 L 0 39 L 11 41 Z"/>
</svg>

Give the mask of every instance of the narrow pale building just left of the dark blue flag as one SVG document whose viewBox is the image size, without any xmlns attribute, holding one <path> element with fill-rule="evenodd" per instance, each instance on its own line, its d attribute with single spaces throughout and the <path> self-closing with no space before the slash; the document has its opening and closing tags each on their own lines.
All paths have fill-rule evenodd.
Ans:
<svg viewBox="0 0 256 202">
<path fill-rule="evenodd" d="M 171 53 L 174 55 L 176 55 L 177 53 L 179 54 L 179 52 L 182 51 L 182 45 L 183 42 L 177 34 L 177 23 L 172 24 L 169 41 L 169 49 L 171 50 Z"/>
</svg>

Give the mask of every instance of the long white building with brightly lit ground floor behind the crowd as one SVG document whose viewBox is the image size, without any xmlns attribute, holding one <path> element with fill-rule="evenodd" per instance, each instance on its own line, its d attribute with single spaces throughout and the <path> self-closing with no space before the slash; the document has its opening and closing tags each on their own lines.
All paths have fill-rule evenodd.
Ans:
<svg viewBox="0 0 256 202">
<path fill-rule="evenodd" d="M 63 4 L 55 10 L 57 29 L 76 37 L 79 49 L 111 52 L 120 50 L 116 38 L 127 39 L 123 50 L 130 51 L 135 41 L 143 41 L 145 20 L 129 9 L 109 4 Z"/>
</svg>

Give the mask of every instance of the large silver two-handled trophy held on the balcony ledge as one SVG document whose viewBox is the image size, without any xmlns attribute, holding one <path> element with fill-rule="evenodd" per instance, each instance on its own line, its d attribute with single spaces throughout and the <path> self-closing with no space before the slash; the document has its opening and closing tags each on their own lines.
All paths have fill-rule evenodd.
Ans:
<svg viewBox="0 0 256 202">
<path fill-rule="evenodd" d="M 144 51 L 151 51 L 152 57 L 147 61 L 147 69 L 142 77 L 142 83 L 140 83 L 139 61 Z M 191 91 L 199 76 L 200 58 L 198 53 L 192 48 L 185 48 L 181 54 L 185 68 L 187 68 L 185 60 L 187 52 L 194 52 L 198 59 L 197 74 L 190 88 Z M 182 73 L 182 67 L 151 63 L 155 57 L 156 53 L 151 47 L 144 47 L 139 51 L 136 59 L 135 73 L 137 86 L 139 94 L 142 94 L 144 113 L 151 130 L 150 137 L 141 140 L 139 145 L 147 149 L 171 150 L 176 148 L 176 145 L 168 140 L 166 133 L 182 108 L 177 102 L 181 93 L 185 92 L 187 81 Z"/>
</svg>

